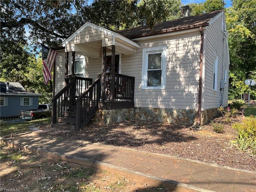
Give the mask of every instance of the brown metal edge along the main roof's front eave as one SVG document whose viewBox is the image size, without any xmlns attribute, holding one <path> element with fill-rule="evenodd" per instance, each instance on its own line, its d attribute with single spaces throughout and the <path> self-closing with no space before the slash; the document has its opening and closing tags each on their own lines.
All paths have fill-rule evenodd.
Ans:
<svg viewBox="0 0 256 192">
<path fill-rule="evenodd" d="M 186 27 L 180 27 L 180 28 L 174 28 L 174 29 L 169 28 L 169 29 L 166 29 L 166 30 L 160 30 L 160 31 L 158 30 L 156 32 L 149 32 L 149 33 L 131 35 L 131 36 L 129 36 L 129 38 L 134 39 L 134 38 L 140 38 L 140 37 L 154 36 L 154 35 L 172 33 L 172 32 L 176 32 L 176 31 L 183 31 L 183 30 L 189 30 L 189 29 L 206 27 L 206 26 L 209 26 L 208 22 L 203 23 L 203 24 L 193 25 L 193 26 L 186 26 Z"/>
</svg>

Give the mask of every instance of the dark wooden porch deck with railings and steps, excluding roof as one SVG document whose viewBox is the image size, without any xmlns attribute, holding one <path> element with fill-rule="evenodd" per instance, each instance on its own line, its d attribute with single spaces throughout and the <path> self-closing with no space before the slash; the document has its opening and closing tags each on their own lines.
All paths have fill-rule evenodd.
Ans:
<svg viewBox="0 0 256 192">
<path fill-rule="evenodd" d="M 114 74 L 112 78 L 103 73 L 94 82 L 76 76 L 67 79 L 67 86 L 52 99 L 53 126 L 79 130 L 97 112 L 101 114 L 99 110 L 134 108 L 134 77 Z M 114 84 L 109 79 L 114 79 Z"/>
</svg>

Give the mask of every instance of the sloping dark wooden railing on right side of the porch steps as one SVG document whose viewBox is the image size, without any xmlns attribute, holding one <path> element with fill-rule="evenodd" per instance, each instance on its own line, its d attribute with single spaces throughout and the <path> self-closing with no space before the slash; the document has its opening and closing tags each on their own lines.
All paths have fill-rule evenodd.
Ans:
<svg viewBox="0 0 256 192">
<path fill-rule="evenodd" d="M 85 126 L 96 113 L 100 100 L 100 78 L 76 99 L 76 130 Z"/>
</svg>

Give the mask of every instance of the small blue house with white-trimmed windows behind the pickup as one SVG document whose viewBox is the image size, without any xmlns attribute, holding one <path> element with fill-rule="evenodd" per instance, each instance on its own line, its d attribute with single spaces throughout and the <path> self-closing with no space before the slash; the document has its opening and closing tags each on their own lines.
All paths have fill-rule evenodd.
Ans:
<svg viewBox="0 0 256 192">
<path fill-rule="evenodd" d="M 20 110 L 38 108 L 38 97 L 41 94 L 29 93 L 18 82 L 0 82 L 0 116 L 4 118 L 16 118 L 20 116 Z"/>
</svg>

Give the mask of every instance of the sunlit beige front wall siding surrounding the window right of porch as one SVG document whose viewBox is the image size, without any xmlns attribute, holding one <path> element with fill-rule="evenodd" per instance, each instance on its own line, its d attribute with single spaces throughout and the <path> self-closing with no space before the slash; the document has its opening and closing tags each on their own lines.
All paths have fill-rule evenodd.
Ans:
<svg viewBox="0 0 256 192">
<path fill-rule="evenodd" d="M 184 34 L 152 41 L 140 41 L 134 55 L 122 55 L 122 74 L 135 77 L 134 104 L 145 108 L 198 109 L 200 33 Z M 144 90 L 142 50 L 167 46 L 166 88 Z"/>
</svg>

